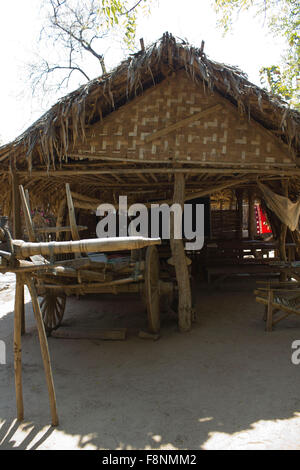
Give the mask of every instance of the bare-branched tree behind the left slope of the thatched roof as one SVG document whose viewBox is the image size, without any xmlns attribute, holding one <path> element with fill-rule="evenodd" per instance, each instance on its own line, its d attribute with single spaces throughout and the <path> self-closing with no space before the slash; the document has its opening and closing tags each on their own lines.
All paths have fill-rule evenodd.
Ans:
<svg viewBox="0 0 300 470">
<path fill-rule="evenodd" d="M 29 65 L 33 93 L 66 89 L 75 84 L 75 75 L 78 86 L 93 78 L 89 70 L 94 75 L 106 73 L 104 50 L 108 39 L 117 36 L 127 50 L 132 49 L 137 15 L 150 2 L 44 0 L 46 23 L 40 33 L 43 55 Z"/>
</svg>

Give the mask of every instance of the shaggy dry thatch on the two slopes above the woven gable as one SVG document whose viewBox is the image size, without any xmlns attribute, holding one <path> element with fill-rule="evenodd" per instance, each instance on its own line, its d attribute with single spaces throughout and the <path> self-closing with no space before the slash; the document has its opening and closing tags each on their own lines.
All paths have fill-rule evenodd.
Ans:
<svg viewBox="0 0 300 470">
<path fill-rule="evenodd" d="M 209 59 L 203 50 L 168 33 L 136 54 L 111 73 L 98 77 L 60 99 L 20 137 L 0 148 L 0 162 L 11 155 L 24 156 L 29 170 L 39 157 L 45 169 L 55 169 L 68 151 L 85 139 L 88 125 L 102 120 L 143 90 L 159 83 L 168 74 L 185 69 L 195 83 L 217 91 L 294 151 L 299 152 L 300 113 L 279 97 L 250 83 L 237 69 Z M 23 159 L 22 159 L 23 160 Z"/>
</svg>

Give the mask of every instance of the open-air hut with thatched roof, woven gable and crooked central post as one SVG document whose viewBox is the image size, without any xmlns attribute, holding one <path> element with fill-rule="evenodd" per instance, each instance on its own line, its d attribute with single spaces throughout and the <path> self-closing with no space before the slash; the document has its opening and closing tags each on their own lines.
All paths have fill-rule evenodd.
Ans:
<svg viewBox="0 0 300 470">
<path fill-rule="evenodd" d="M 226 223 L 238 243 L 243 204 L 250 207 L 248 238 L 256 233 L 253 206 L 262 191 L 257 184 L 298 198 L 299 128 L 300 114 L 280 98 L 236 67 L 210 60 L 203 47 L 166 33 L 62 98 L 0 149 L 0 207 L 19 238 L 19 184 L 29 190 L 33 207 L 51 208 L 58 225 L 65 183 L 79 210 L 115 204 L 124 194 L 130 204 L 206 198 L 207 237 L 214 226 L 221 237 Z M 224 209 L 228 217 L 222 222 Z M 285 259 L 285 241 L 297 248 L 297 232 L 268 213 Z M 183 242 L 173 241 L 171 248 L 184 330 L 191 318 L 189 275 Z"/>
</svg>

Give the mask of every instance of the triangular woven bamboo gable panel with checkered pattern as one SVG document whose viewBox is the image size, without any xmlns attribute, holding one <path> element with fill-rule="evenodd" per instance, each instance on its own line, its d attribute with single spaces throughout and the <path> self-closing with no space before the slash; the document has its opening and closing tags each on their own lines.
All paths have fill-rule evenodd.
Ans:
<svg viewBox="0 0 300 470">
<path fill-rule="evenodd" d="M 206 113 L 209 108 L 213 111 Z M 181 124 L 203 112 L 203 116 Z M 173 125 L 178 127 L 168 129 Z M 153 138 L 161 131 L 163 135 Z M 245 166 L 292 163 L 288 150 L 262 126 L 240 118 L 226 99 L 196 86 L 184 72 L 92 126 L 85 144 L 76 151 L 140 161 L 233 162 Z"/>
</svg>

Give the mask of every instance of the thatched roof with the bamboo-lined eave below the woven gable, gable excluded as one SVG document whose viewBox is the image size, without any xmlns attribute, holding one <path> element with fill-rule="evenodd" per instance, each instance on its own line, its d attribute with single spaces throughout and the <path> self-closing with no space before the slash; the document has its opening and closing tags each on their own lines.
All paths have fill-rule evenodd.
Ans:
<svg viewBox="0 0 300 470">
<path fill-rule="evenodd" d="M 228 188 L 247 190 L 257 178 L 268 180 L 281 191 L 282 178 L 289 180 L 289 194 L 300 194 L 297 158 L 287 166 L 268 167 L 264 162 L 246 168 L 237 164 L 205 161 L 131 160 L 119 155 L 82 156 L 91 126 L 166 77 L 187 73 L 201 90 L 228 100 L 246 118 L 259 123 L 282 143 L 287 157 L 299 155 L 300 113 L 280 98 L 247 80 L 236 67 L 214 62 L 203 50 L 166 33 L 145 50 L 123 61 L 111 73 L 98 77 L 58 101 L 20 137 L 0 148 L 0 206 L 3 214 L 12 210 L 12 182 L 21 183 L 30 194 L 32 208 L 48 208 L 58 214 L 65 199 L 65 183 L 71 185 L 75 207 L 91 209 L 102 202 L 115 202 L 126 194 L 128 202 L 171 201 L 173 175 L 184 172 L 186 198 L 192 199 Z M 145 93 L 146 95 L 146 93 Z M 255 123 L 256 121 L 256 123 Z M 258 124 L 258 125 L 259 125 Z M 259 127 L 261 127 L 259 126 Z M 97 126 L 96 126 L 97 127 Z M 78 155 L 72 154 L 78 149 Z M 223 162 L 224 163 L 224 162 Z M 15 175 L 13 179 L 12 176 Z"/>
</svg>

